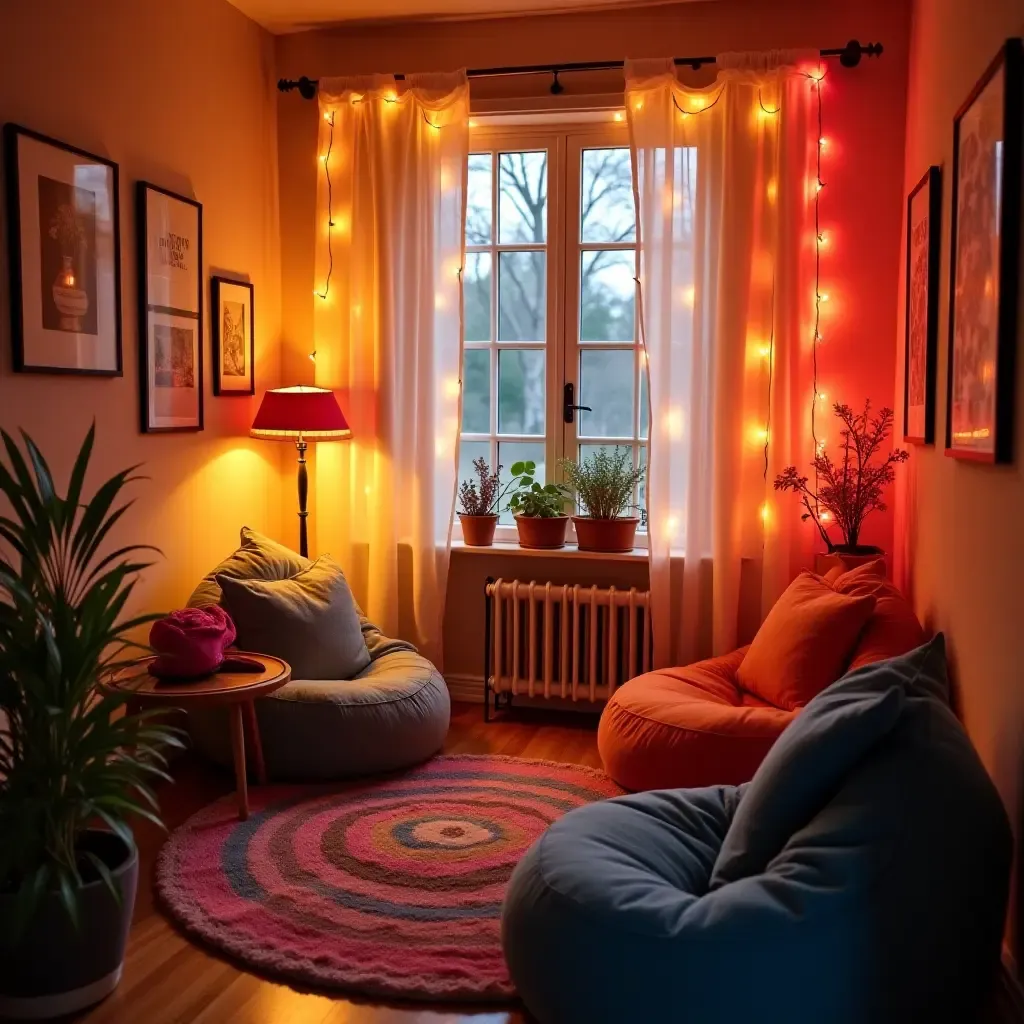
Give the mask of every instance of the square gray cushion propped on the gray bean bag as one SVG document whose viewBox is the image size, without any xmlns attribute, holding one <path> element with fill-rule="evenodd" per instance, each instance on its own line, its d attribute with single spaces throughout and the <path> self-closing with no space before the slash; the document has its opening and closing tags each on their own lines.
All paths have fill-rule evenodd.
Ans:
<svg viewBox="0 0 1024 1024">
<path fill-rule="evenodd" d="M 293 679 L 351 679 L 370 664 L 348 581 L 329 555 L 287 580 L 217 584 L 238 646 L 284 658 Z"/>
</svg>

